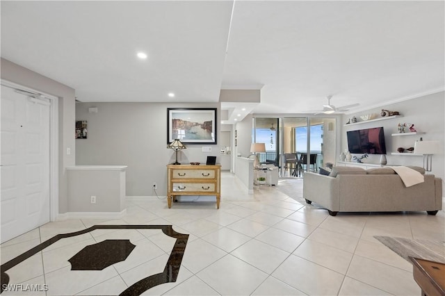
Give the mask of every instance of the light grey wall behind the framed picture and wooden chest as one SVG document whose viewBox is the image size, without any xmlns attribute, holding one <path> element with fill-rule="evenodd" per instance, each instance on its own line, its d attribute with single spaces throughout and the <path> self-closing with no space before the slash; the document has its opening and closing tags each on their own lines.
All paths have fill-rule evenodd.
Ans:
<svg viewBox="0 0 445 296">
<path fill-rule="evenodd" d="M 88 113 L 90 107 L 98 113 Z M 179 163 L 206 163 L 207 156 L 218 163 L 219 104 L 77 103 L 76 120 L 87 120 L 88 138 L 76 140 L 76 165 L 127 165 L 127 196 L 154 195 L 154 182 L 166 195 L 166 165 L 175 162 L 175 151 L 167 149 L 167 108 L 218 108 L 217 145 L 186 145 L 178 152 Z"/>
</svg>

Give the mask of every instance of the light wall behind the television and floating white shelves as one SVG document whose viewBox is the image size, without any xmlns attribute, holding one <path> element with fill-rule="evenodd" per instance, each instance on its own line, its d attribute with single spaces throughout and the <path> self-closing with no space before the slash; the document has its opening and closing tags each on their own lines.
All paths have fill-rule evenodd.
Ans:
<svg viewBox="0 0 445 296">
<path fill-rule="evenodd" d="M 429 94 L 407 101 L 401 101 L 396 104 L 385 105 L 381 108 L 373 108 L 365 110 L 357 114 L 343 115 L 341 123 L 341 149 L 348 147 L 346 139 L 346 131 L 354 131 L 357 129 L 367 129 L 371 127 L 383 126 L 385 131 L 385 142 L 387 145 L 387 165 L 419 165 L 423 166 L 421 156 L 393 156 L 391 152 L 396 152 L 398 147 L 409 148 L 414 147 L 414 141 L 423 138 L 423 140 L 439 140 L 442 142 L 442 151 L 444 150 L 444 101 L 445 92 Z M 360 115 L 377 113 L 380 117 L 382 109 L 398 111 L 403 117 L 391 120 L 382 120 L 378 122 L 369 122 L 357 124 L 353 126 L 344 126 L 349 118 L 353 116 L 359 118 Z M 391 133 L 397 133 L 397 124 L 401 122 L 412 123 L 417 131 L 423 131 L 423 135 L 408 135 L 392 137 Z M 370 155 L 366 162 L 378 163 L 380 156 Z M 338 158 L 337 158 L 338 161 Z M 432 156 L 432 172 L 444 180 L 444 153 Z M 444 188 L 445 189 L 445 188 Z"/>
</svg>

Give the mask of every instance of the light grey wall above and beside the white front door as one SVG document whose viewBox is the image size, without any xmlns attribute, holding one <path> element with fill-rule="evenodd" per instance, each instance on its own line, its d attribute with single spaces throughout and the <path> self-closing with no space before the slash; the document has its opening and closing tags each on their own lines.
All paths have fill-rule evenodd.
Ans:
<svg viewBox="0 0 445 296">
<path fill-rule="evenodd" d="M 40 90 L 58 97 L 58 210 L 66 213 L 67 200 L 67 172 L 65 167 L 75 163 L 74 142 L 74 101 L 75 92 L 67 85 L 49 79 L 20 65 L 1 58 L 1 79 L 24 85 L 34 90 Z M 70 148 L 72 154 L 65 151 Z"/>
</svg>

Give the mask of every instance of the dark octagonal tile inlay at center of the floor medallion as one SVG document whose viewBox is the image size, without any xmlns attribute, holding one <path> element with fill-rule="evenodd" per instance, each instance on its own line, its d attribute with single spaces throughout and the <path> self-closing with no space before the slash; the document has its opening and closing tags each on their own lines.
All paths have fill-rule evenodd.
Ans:
<svg viewBox="0 0 445 296">
<path fill-rule="evenodd" d="M 135 247 L 130 240 L 104 240 L 84 247 L 68 261 L 71 270 L 103 270 L 125 261 Z"/>
</svg>

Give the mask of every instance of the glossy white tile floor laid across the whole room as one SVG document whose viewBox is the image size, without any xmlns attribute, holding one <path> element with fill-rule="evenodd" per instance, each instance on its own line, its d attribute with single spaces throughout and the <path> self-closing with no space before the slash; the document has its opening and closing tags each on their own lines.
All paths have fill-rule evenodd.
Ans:
<svg viewBox="0 0 445 296">
<path fill-rule="evenodd" d="M 278 186 L 293 186 L 293 197 L 301 199 L 301 179 L 282 179 Z M 172 224 L 190 234 L 178 279 L 143 295 L 420 295 L 411 264 L 373 236 L 444 241 L 444 211 L 331 217 L 277 188 L 256 187 L 248 195 L 223 173 L 219 210 L 213 202 L 169 209 L 165 199 L 129 199 L 122 220 L 51 222 L 10 240 L 1 245 L 1 263 L 58 233 L 94 224 Z M 101 271 L 70 270 L 67 259 L 80 249 L 116 238 L 136 245 L 126 261 Z M 159 229 L 97 229 L 59 240 L 7 273 L 10 283 L 48 286 L 22 295 L 118 295 L 161 272 L 174 243 Z"/>
</svg>

